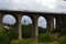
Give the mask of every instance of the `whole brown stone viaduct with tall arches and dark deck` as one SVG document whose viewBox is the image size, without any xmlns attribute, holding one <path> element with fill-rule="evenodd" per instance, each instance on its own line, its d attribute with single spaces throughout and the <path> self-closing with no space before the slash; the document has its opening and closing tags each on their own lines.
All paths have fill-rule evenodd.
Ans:
<svg viewBox="0 0 66 44">
<path fill-rule="evenodd" d="M 21 18 L 23 15 L 29 15 L 32 19 L 32 29 L 31 29 L 31 37 L 37 40 L 38 29 L 37 29 L 37 19 L 38 16 L 44 16 L 47 23 L 47 33 L 52 33 L 54 30 L 54 18 L 56 19 L 56 28 L 59 28 L 62 23 L 64 13 L 53 13 L 53 12 L 31 12 L 31 11 L 9 11 L 9 10 L 0 10 L 0 30 L 2 30 L 2 18 L 6 14 L 12 14 L 15 20 L 15 30 L 19 34 L 19 40 L 22 38 L 22 24 Z"/>
</svg>

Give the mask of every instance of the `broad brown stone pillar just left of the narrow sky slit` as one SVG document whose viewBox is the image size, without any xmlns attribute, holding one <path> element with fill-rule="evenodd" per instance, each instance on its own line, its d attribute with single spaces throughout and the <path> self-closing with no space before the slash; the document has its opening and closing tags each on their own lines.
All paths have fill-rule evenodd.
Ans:
<svg viewBox="0 0 66 44">
<path fill-rule="evenodd" d="M 54 18 L 47 16 L 47 33 L 52 33 L 54 30 Z"/>
</svg>

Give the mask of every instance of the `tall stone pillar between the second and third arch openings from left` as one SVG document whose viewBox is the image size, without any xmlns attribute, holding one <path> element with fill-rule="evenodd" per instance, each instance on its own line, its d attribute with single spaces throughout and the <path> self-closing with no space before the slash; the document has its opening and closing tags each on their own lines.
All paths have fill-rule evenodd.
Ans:
<svg viewBox="0 0 66 44">
<path fill-rule="evenodd" d="M 35 41 L 37 41 L 37 36 L 38 36 L 38 29 L 37 29 L 37 18 L 34 18 L 32 20 L 32 30 L 31 30 L 31 36 L 32 38 L 34 38 Z"/>
</svg>

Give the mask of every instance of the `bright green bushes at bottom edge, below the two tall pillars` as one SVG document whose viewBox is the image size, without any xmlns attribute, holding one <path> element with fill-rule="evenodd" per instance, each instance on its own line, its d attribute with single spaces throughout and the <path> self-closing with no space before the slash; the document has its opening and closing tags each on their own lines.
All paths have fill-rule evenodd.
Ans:
<svg viewBox="0 0 66 44">
<path fill-rule="evenodd" d="M 13 40 L 11 44 L 37 44 L 35 41 L 29 38 L 29 40 Z"/>
</svg>

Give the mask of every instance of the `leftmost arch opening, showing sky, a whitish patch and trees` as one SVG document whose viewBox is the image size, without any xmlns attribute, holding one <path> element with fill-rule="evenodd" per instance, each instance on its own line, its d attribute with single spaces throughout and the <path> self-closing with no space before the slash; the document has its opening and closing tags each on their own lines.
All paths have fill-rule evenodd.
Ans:
<svg viewBox="0 0 66 44">
<path fill-rule="evenodd" d="M 7 34 L 11 40 L 18 38 L 16 34 L 18 32 L 15 30 L 16 19 L 12 14 L 4 14 L 2 22 L 3 22 L 2 30 L 4 30 L 4 34 Z"/>
</svg>

